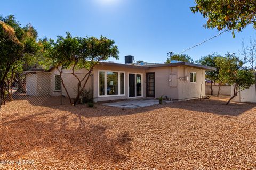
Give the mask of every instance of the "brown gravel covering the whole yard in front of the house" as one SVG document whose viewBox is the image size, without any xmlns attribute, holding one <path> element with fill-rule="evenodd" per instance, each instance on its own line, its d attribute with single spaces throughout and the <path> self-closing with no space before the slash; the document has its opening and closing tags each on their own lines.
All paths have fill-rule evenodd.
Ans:
<svg viewBox="0 0 256 170">
<path fill-rule="evenodd" d="M 0 111 L 0 160 L 34 164 L 0 169 L 256 169 L 256 105 L 226 100 L 130 110 L 13 101 Z"/>
</svg>

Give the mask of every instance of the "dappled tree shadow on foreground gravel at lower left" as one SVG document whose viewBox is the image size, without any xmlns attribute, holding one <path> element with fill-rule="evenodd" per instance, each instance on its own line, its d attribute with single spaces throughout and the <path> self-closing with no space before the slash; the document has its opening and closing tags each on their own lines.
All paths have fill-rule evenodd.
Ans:
<svg viewBox="0 0 256 170">
<path fill-rule="evenodd" d="M 129 133 L 109 138 L 103 124 L 90 124 L 74 114 L 54 118 L 51 111 L 21 116 L 0 125 L 1 159 L 15 160 L 33 150 L 50 149 L 58 159 L 81 163 L 87 158 L 92 163 L 122 162 L 127 157 L 121 150 L 131 149 Z M 74 126 L 74 127 L 73 127 Z"/>
</svg>

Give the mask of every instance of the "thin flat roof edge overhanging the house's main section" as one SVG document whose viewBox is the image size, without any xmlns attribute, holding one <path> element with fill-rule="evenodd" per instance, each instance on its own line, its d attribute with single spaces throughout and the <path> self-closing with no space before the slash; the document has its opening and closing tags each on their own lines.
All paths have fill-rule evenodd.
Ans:
<svg viewBox="0 0 256 170">
<path fill-rule="evenodd" d="M 194 64 L 189 62 L 177 62 L 177 63 L 167 63 L 167 64 L 154 64 L 154 65 L 131 65 L 131 64 L 120 64 L 120 63 L 112 63 L 112 62 L 100 62 L 101 65 L 108 65 L 108 66 L 120 66 L 120 67 L 127 67 L 127 68 L 133 68 L 133 69 L 150 69 L 150 68 L 157 68 L 157 67 L 169 67 L 169 66 L 189 66 L 194 67 L 198 69 L 204 69 L 204 70 L 216 70 L 214 67 L 209 67 L 205 65 L 200 64 Z"/>
</svg>

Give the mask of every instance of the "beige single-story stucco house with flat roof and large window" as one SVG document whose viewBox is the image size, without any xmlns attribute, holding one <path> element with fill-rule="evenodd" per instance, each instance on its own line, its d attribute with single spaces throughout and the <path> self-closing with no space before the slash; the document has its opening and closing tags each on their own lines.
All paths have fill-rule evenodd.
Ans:
<svg viewBox="0 0 256 170">
<path fill-rule="evenodd" d="M 188 62 L 169 64 L 132 65 L 100 62 L 93 69 L 85 89 L 93 91 L 95 102 L 134 98 L 169 98 L 176 101 L 205 96 L 205 70 L 213 67 Z M 77 79 L 63 70 L 63 82 L 71 98 L 76 96 Z M 86 69 L 76 71 L 82 78 Z M 61 88 L 57 69 L 27 74 L 28 95 L 67 96 Z M 30 93 L 30 94 L 29 94 Z"/>
</svg>

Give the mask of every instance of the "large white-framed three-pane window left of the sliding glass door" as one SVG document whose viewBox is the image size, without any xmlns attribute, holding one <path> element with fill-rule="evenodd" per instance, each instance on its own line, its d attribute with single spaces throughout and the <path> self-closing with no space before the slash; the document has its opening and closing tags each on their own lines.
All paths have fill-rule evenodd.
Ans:
<svg viewBox="0 0 256 170">
<path fill-rule="evenodd" d="M 99 71 L 99 96 L 124 95 L 124 72 Z"/>
</svg>

